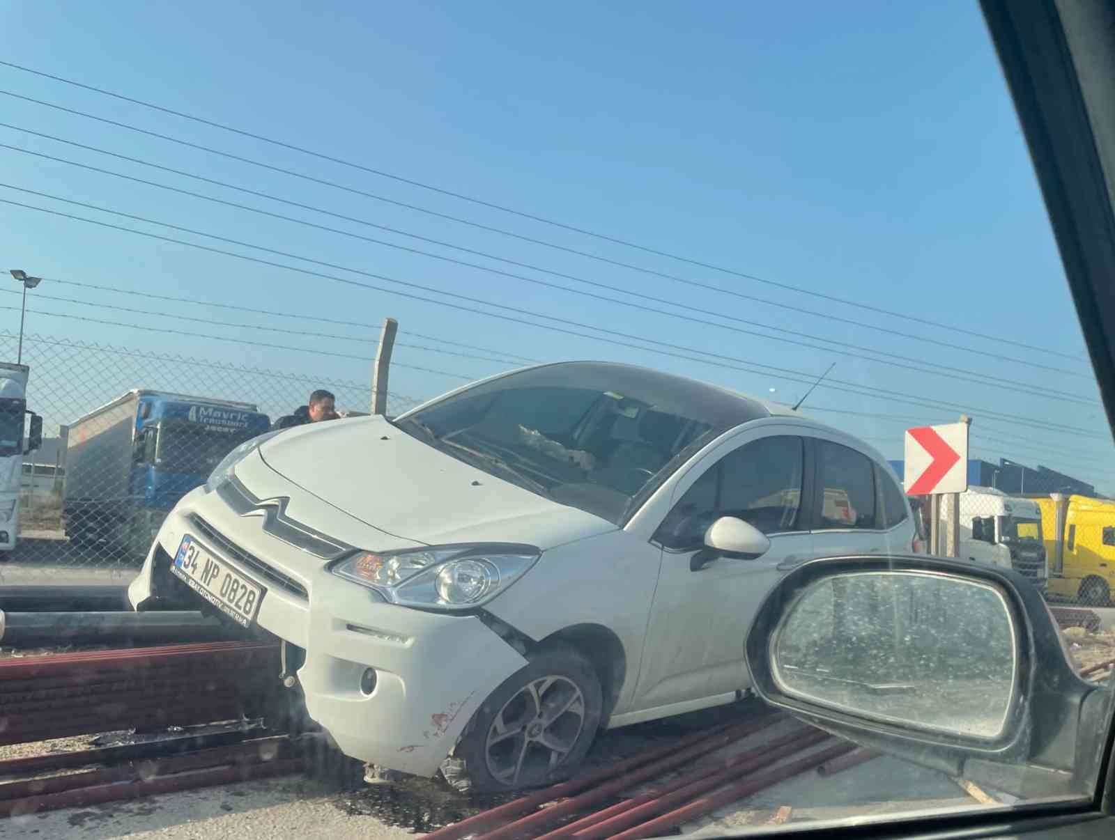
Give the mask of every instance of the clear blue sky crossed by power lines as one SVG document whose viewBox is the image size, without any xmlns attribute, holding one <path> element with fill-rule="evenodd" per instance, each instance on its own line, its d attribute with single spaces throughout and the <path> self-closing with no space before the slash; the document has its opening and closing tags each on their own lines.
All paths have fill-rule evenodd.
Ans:
<svg viewBox="0 0 1115 840">
<path fill-rule="evenodd" d="M 1008 389 L 960 381 L 949 372 L 927 374 L 640 312 L 0 148 L 0 182 L 6 185 L 681 345 L 688 349 L 683 355 L 695 359 L 704 351 L 812 375 L 835 361 L 831 375 L 844 382 L 1083 430 L 1049 431 L 981 418 L 976 411 L 973 455 L 1040 462 L 1115 489 L 1115 482 L 1107 480 L 1115 466 L 1109 436 L 1098 403 L 1087 402 L 1096 399 L 1096 390 L 1063 270 L 975 2 L 808 2 L 782 8 L 752 2 L 319 3 L 312 8 L 283 2 L 120 2 L 112 6 L 110 14 L 90 4 L 27 2 L 8 3 L 0 14 L 0 47 L 9 61 L 612 237 L 1048 348 L 1076 360 L 943 332 L 593 240 L 0 67 L 3 90 L 817 314 L 695 289 L 0 95 L 3 123 L 552 272 L 1014 384 Z M 0 128 L 0 144 L 462 256 L 400 234 L 284 207 L 9 128 Z M 7 186 L 0 187 L 0 198 L 214 245 L 204 237 L 168 233 Z M 794 400 L 804 389 L 773 371 L 730 370 L 615 346 L 11 205 L 0 204 L 0 257 L 48 279 L 358 323 L 391 315 L 400 322 L 399 341 L 405 343 L 435 346 L 408 338 L 421 333 L 541 360 L 617 359 L 775 399 Z M 297 262 L 244 246 L 216 246 Z M 588 290 L 485 257 L 464 258 Z M 298 264 L 398 287 L 347 271 Z M 16 289 L 12 284 L 9 291 Z M 370 356 L 370 345 L 360 341 L 374 338 L 367 329 L 144 301 L 58 283 L 43 283 L 32 294 L 30 307 L 37 312 L 28 314 L 29 332 L 300 375 L 356 382 L 368 378 L 362 359 L 308 352 Z M 46 295 L 166 314 L 114 313 Z M 18 297 L 0 296 L 0 306 L 4 305 L 18 305 Z M 492 310 L 487 304 L 475 307 Z M 46 312 L 138 323 L 164 332 L 39 314 Z M 880 333 L 825 315 L 953 346 Z M 184 316 L 329 334 L 205 326 Z M 717 315 L 694 316 L 769 333 Z M 0 310 L 0 329 L 18 329 L 18 312 Z M 171 329 L 280 346 L 165 332 Z M 506 367 L 415 348 L 399 348 L 396 360 L 457 377 L 399 367 L 392 390 L 413 397 L 433 395 L 458 384 L 460 378 Z M 118 384 L 90 377 L 81 389 L 88 400 Z M 61 387 L 51 382 L 51 388 Z M 1086 402 L 1050 398 L 1049 390 L 1078 394 Z M 905 424 L 911 424 L 949 421 L 959 413 L 826 388 L 818 389 L 809 403 L 869 414 L 817 412 L 869 438 L 889 457 L 901 457 L 905 421 L 879 414 L 910 417 Z M 995 441 L 989 440 L 992 434 Z"/>
</svg>

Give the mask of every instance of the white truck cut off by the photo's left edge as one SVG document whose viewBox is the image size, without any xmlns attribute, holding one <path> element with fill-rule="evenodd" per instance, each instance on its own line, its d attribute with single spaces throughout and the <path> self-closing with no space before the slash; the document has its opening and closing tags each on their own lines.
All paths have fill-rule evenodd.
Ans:
<svg viewBox="0 0 1115 840">
<path fill-rule="evenodd" d="M 0 362 L 0 551 L 16 547 L 19 536 L 19 486 L 23 456 L 42 446 L 42 418 L 27 410 L 26 364 Z M 23 439 L 26 416 L 30 431 Z"/>
</svg>

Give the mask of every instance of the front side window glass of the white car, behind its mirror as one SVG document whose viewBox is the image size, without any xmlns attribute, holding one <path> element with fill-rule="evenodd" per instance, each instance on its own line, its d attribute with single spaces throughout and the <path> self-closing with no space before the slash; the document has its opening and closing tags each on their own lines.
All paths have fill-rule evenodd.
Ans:
<svg viewBox="0 0 1115 840">
<path fill-rule="evenodd" d="M 804 447 L 789 436 L 762 438 L 733 450 L 694 482 L 670 510 L 655 539 L 676 550 L 697 549 L 721 516 L 764 534 L 793 530 L 802 504 Z"/>
</svg>

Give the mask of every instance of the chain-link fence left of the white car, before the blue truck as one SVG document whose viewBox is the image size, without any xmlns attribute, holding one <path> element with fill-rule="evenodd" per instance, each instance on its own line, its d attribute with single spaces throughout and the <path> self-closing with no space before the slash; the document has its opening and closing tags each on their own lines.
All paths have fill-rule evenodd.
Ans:
<svg viewBox="0 0 1115 840">
<path fill-rule="evenodd" d="M 14 360 L 17 342 L 0 332 L 0 359 Z M 26 334 L 22 363 L 43 440 L 23 456 L 21 477 L 0 476 L 0 486 L 20 488 L 7 511 L 9 521 L 18 516 L 17 545 L 0 559 L 45 568 L 137 568 L 165 511 L 311 391 L 333 393 L 342 414 L 368 413 L 371 402 L 370 353 L 368 381 L 353 382 Z M 128 397 L 136 390 L 166 397 Z M 391 392 L 388 414 L 420 402 Z M 0 458 L 0 469 L 13 472 L 17 461 Z"/>
</svg>

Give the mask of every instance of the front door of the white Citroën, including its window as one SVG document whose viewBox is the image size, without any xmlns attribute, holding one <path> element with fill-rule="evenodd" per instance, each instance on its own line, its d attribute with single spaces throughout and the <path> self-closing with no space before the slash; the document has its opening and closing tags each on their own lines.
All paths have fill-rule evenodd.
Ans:
<svg viewBox="0 0 1115 840">
<path fill-rule="evenodd" d="M 743 643 L 752 615 L 782 574 L 779 564 L 813 553 L 803 525 L 809 519 L 811 470 L 803 439 L 789 431 L 766 427 L 736 436 L 678 482 L 670 512 L 653 537 L 663 554 L 636 710 L 746 687 Z M 720 516 L 749 521 L 767 535 L 769 550 L 752 560 L 719 557 L 690 570 L 705 531 Z"/>
</svg>

